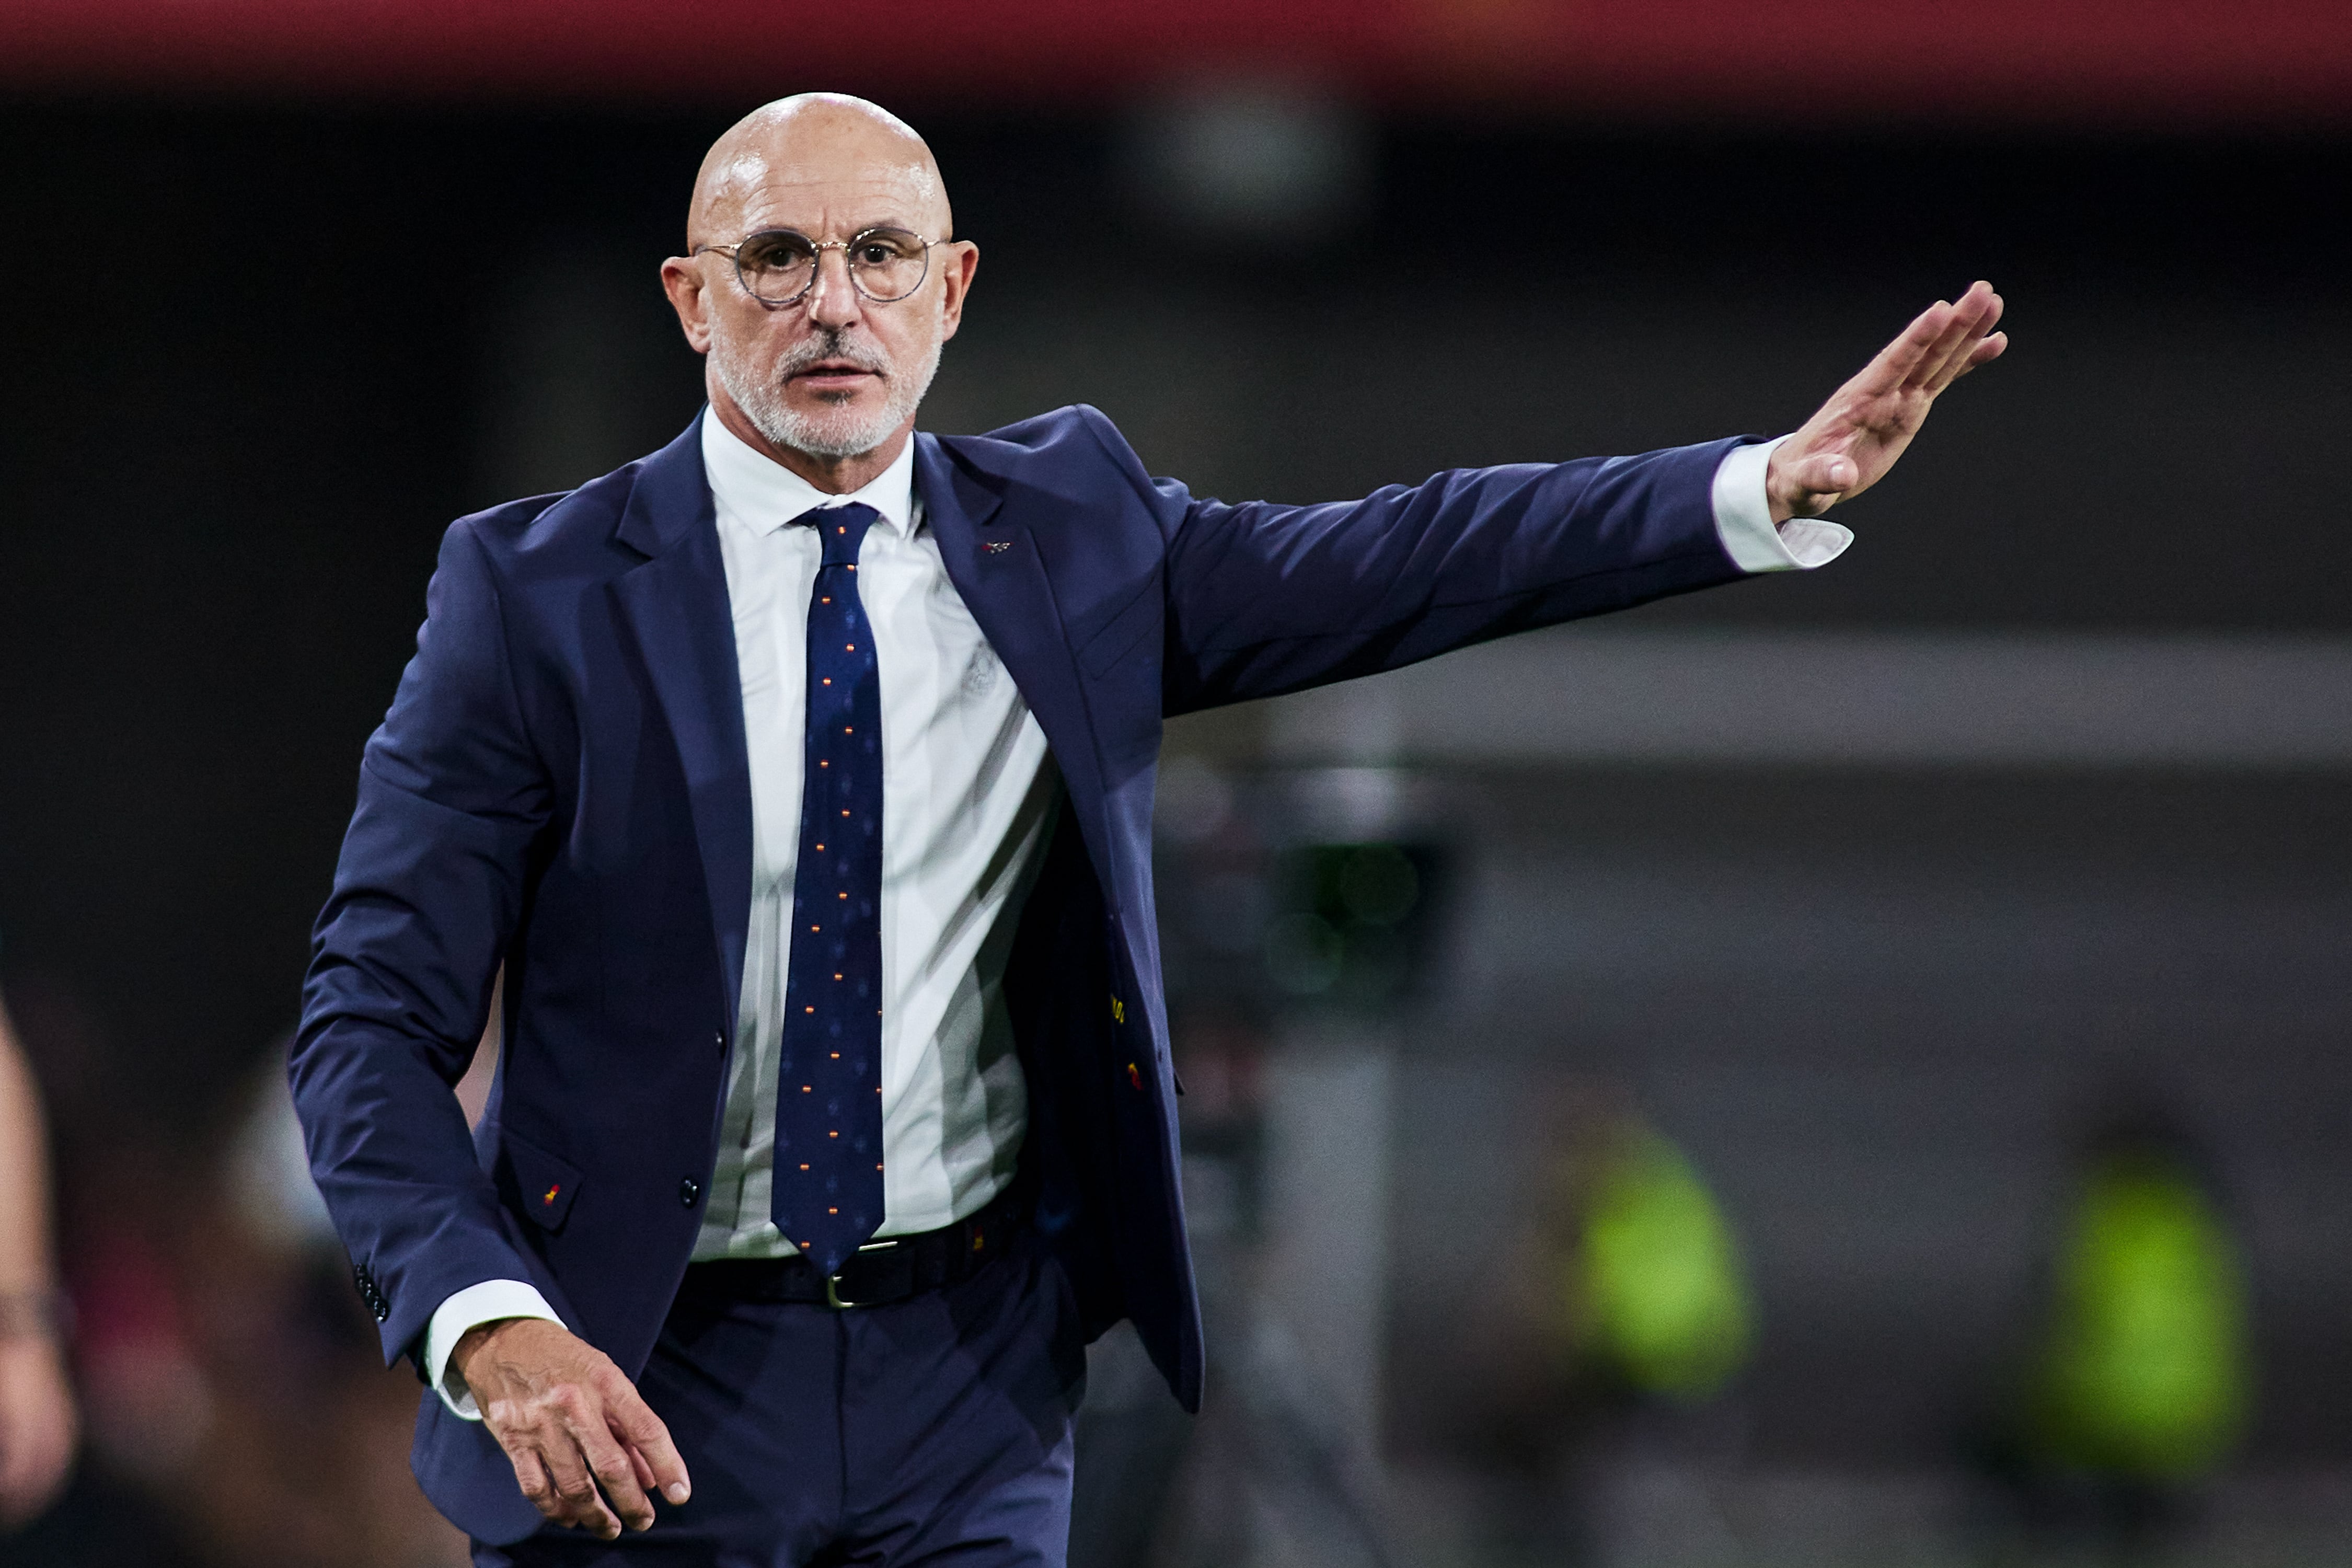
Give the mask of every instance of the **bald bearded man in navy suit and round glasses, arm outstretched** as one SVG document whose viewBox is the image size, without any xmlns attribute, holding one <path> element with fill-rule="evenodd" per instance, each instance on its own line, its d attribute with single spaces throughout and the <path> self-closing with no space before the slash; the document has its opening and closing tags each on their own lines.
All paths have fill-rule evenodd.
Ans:
<svg viewBox="0 0 2352 1568">
<path fill-rule="evenodd" d="M 708 411 L 454 524 L 369 741 L 294 1093 L 480 1563 L 1058 1563 L 1082 1342 L 1200 1401 L 1162 717 L 1828 559 L 2004 346 L 1976 284 L 1778 447 L 1223 505 L 1094 409 L 915 435 L 953 233 L 870 103 L 727 132 L 663 263 Z"/>
</svg>

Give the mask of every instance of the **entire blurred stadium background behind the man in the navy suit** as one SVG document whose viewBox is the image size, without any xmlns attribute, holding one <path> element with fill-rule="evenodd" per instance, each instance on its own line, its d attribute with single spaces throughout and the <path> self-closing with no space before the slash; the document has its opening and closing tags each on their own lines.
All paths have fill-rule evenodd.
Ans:
<svg viewBox="0 0 2352 1568">
<path fill-rule="evenodd" d="M 866 92 L 931 430 L 1197 494 L 1780 433 L 1832 569 L 1171 724 L 1211 1319 L 1073 1563 L 2352 1559 L 2338 0 L 9 0 L 0 980 L 87 1446 L 9 1563 L 463 1561 L 280 1058 L 440 529 L 668 440 L 708 141 Z"/>
</svg>

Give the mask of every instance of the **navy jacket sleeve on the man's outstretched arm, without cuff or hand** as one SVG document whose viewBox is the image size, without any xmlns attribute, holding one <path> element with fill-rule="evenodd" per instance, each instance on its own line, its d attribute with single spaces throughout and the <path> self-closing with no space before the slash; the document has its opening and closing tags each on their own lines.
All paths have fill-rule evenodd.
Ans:
<svg viewBox="0 0 2352 1568">
<path fill-rule="evenodd" d="M 1228 505 L 1143 480 L 1167 534 L 1167 712 L 1740 578 L 1710 494 L 1738 444 L 1461 468 L 1329 505 Z"/>
</svg>

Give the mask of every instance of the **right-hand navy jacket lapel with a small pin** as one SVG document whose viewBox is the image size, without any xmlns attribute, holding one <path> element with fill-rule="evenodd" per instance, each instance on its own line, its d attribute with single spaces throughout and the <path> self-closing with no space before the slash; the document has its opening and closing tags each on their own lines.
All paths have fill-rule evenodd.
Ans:
<svg viewBox="0 0 2352 1568">
<path fill-rule="evenodd" d="M 964 609 L 981 623 L 988 646 L 1004 661 L 1070 790 L 1070 806 L 1096 867 L 1108 872 L 1110 839 L 1103 832 L 1103 771 L 1094 745 L 1094 719 L 1070 656 L 1070 639 L 1054 604 L 1044 557 L 1028 529 L 1000 517 L 1004 498 L 955 463 L 936 435 L 915 437 L 915 491 L 938 541 L 948 581 Z"/>
</svg>

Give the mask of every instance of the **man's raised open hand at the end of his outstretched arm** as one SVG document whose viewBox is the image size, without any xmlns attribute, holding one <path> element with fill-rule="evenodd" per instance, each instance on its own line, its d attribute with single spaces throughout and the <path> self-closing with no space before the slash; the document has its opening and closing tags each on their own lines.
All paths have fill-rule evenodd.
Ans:
<svg viewBox="0 0 2352 1568">
<path fill-rule="evenodd" d="M 1837 388 L 1813 418 L 1780 442 L 1764 470 L 1771 520 L 1818 517 L 1877 484 L 1910 437 L 1919 435 L 1936 395 L 2009 348 L 2002 296 L 1973 282 L 1957 303 L 1936 301 L 1853 381 Z"/>
</svg>

